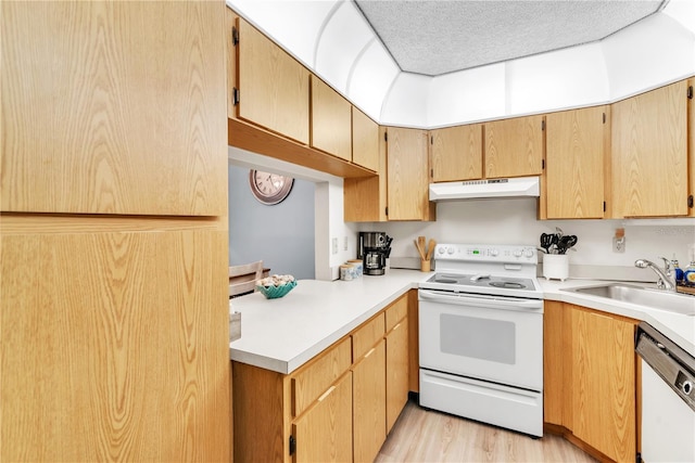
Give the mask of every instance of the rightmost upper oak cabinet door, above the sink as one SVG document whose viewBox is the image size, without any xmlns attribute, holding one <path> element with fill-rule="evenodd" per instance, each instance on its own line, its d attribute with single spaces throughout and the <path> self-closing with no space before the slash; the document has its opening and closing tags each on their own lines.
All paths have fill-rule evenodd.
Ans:
<svg viewBox="0 0 695 463">
<path fill-rule="evenodd" d="M 687 210 L 686 81 L 611 107 L 614 216 L 685 216 Z"/>
</svg>

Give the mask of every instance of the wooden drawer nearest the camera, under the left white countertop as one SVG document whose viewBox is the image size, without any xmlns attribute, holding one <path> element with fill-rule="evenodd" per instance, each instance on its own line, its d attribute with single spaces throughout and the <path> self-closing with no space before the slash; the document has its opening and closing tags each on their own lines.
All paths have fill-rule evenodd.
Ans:
<svg viewBox="0 0 695 463">
<path fill-rule="evenodd" d="M 350 337 L 329 348 L 300 372 L 292 375 L 292 415 L 299 416 L 352 363 Z"/>
</svg>

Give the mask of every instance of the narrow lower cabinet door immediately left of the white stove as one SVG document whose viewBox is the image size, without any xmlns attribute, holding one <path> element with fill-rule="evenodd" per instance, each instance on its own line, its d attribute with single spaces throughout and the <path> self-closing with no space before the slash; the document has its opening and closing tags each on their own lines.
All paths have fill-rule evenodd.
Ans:
<svg viewBox="0 0 695 463">
<path fill-rule="evenodd" d="M 408 319 L 387 334 L 387 434 L 408 401 Z"/>
</svg>

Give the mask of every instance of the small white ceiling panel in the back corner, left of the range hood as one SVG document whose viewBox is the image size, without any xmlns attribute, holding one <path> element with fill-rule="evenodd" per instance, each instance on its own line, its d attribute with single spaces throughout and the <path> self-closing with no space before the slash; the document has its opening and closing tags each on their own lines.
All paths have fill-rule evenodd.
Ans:
<svg viewBox="0 0 695 463">
<path fill-rule="evenodd" d="M 387 94 L 380 123 L 403 127 L 428 127 L 428 97 L 431 77 L 401 73 Z"/>
</svg>

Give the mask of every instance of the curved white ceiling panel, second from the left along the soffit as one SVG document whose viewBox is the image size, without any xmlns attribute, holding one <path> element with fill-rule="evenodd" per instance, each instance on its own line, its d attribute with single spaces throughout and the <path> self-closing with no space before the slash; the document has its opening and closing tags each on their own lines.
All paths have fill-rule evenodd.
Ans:
<svg viewBox="0 0 695 463">
<path fill-rule="evenodd" d="M 336 9 L 318 37 L 315 70 L 337 90 L 345 92 L 348 76 L 374 30 L 352 2 Z"/>
</svg>

